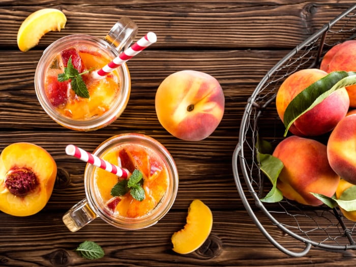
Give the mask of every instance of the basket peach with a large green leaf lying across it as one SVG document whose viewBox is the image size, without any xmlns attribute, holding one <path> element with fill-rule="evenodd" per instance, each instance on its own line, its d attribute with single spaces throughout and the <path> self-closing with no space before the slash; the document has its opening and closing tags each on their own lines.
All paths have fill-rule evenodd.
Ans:
<svg viewBox="0 0 356 267">
<path fill-rule="evenodd" d="M 328 75 L 327 72 L 319 69 L 304 69 L 292 73 L 284 80 L 276 96 L 277 112 L 282 121 L 285 109 L 292 99 L 326 75 Z M 327 133 L 333 130 L 346 115 L 348 108 L 348 94 L 345 87 L 342 87 L 301 115 L 289 131 L 298 136 L 318 136 Z"/>
</svg>

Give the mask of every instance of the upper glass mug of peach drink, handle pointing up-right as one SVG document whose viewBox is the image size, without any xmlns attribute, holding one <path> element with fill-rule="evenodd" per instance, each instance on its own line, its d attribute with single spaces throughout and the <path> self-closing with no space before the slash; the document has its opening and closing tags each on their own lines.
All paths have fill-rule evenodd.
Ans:
<svg viewBox="0 0 356 267">
<path fill-rule="evenodd" d="M 127 65 L 122 64 L 100 79 L 94 77 L 94 72 L 127 48 L 136 33 L 137 25 L 123 17 L 105 39 L 76 34 L 49 45 L 35 73 L 36 95 L 45 112 L 56 123 L 77 131 L 97 130 L 115 121 L 125 110 L 130 97 L 131 79 Z M 59 79 L 58 75 L 69 70 L 71 73 L 75 70 L 78 75 Z"/>
</svg>

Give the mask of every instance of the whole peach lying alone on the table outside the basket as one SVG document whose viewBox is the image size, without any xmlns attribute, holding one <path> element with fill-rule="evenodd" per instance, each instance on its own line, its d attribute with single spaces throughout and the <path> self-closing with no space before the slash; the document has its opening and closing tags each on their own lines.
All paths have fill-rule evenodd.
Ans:
<svg viewBox="0 0 356 267">
<path fill-rule="evenodd" d="M 161 125 L 173 136 L 190 141 L 211 135 L 224 114 L 220 83 L 211 75 L 184 70 L 166 77 L 155 99 Z"/>
</svg>

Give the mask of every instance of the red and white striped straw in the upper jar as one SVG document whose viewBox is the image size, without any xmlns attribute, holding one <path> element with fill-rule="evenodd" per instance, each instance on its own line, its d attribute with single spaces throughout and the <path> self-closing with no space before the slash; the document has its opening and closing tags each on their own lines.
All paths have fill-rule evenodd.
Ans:
<svg viewBox="0 0 356 267">
<path fill-rule="evenodd" d="M 94 78 L 100 79 L 104 77 L 106 74 L 112 72 L 114 69 L 117 67 L 121 66 L 130 58 L 132 58 L 134 55 L 137 55 L 139 52 L 141 52 L 143 49 L 146 47 L 149 47 L 153 43 L 157 41 L 157 36 L 155 33 L 149 32 L 147 33 L 144 37 L 142 37 L 140 40 L 138 40 L 135 44 L 127 48 L 125 51 L 123 51 L 120 55 L 116 56 L 111 62 L 109 62 L 107 65 L 105 65 L 103 68 L 98 70 L 97 72 L 94 72 Z"/>
</svg>

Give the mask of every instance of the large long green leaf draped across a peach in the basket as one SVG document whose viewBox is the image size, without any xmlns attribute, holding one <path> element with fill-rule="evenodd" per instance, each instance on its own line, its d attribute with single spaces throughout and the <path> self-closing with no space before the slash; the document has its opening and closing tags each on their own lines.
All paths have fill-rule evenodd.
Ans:
<svg viewBox="0 0 356 267">
<path fill-rule="evenodd" d="M 336 90 L 356 84 L 356 72 L 334 71 L 309 85 L 288 104 L 283 117 L 287 135 L 297 118 L 314 108 Z"/>
</svg>

